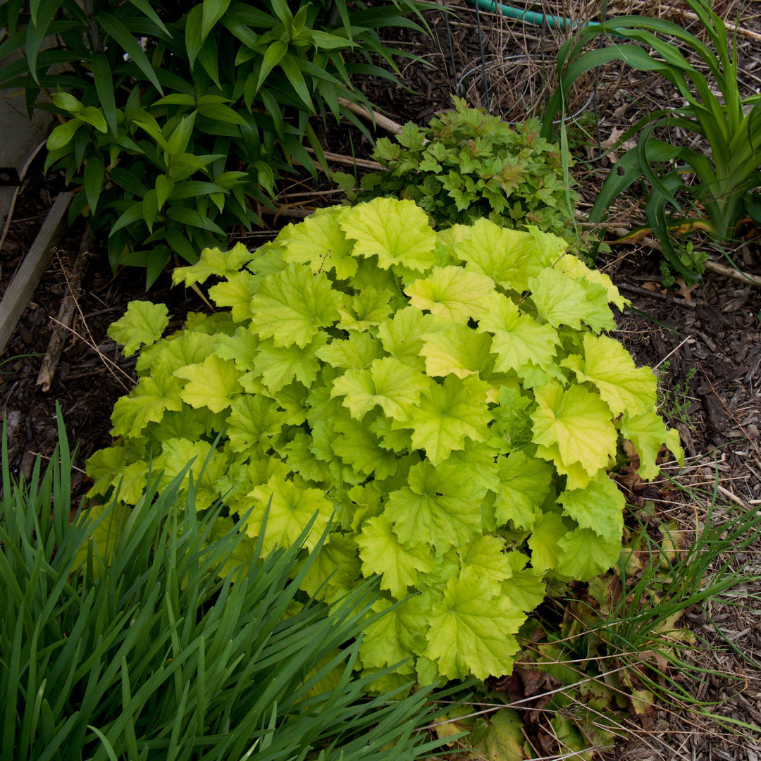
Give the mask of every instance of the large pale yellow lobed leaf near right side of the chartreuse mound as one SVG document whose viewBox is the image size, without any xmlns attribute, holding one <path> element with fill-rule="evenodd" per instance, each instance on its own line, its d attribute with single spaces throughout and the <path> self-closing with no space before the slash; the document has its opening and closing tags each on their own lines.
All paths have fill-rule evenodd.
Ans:
<svg viewBox="0 0 761 761">
<path fill-rule="evenodd" d="M 581 386 L 568 390 L 556 384 L 537 389 L 539 408 L 533 412 L 533 441 L 557 444 L 563 465 L 579 463 L 590 476 L 616 456 L 618 432 L 610 409 L 596 393 Z"/>
</svg>

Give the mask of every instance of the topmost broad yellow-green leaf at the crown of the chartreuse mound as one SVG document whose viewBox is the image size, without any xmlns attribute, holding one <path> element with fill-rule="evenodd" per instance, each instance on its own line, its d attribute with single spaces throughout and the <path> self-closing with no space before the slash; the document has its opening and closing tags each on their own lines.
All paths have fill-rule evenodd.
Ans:
<svg viewBox="0 0 761 761">
<path fill-rule="evenodd" d="M 415 202 L 376 198 L 342 215 L 340 224 L 355 240 L 354 256 L 377 256 L 381 269 L 403 264 L 425 272 L 434 263 L 436 234 Z"/>
</svg>

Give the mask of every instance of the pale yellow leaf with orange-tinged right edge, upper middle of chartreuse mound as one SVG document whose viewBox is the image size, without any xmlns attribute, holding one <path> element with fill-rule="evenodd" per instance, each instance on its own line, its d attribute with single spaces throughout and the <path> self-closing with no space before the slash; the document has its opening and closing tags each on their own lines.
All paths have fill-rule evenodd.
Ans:
<svg viewBox="0 0 761 761">
<path fill-rule="evenodd" d="M 416 280 L 404 292 L 413 307 L 466 325 L 482 314 L 484 300 L 493 290 L 494 282 L 486 275 L 449 266 L 434 267 L 427 278 Z"/>
</svg>

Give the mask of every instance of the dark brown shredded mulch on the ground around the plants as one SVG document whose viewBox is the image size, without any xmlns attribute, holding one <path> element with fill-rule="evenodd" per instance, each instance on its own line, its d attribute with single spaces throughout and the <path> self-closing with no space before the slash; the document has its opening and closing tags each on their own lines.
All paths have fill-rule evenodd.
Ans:
<svg viewBox="0 0 761 761">
<path fill-rule="evenodd" d="M 460 85 L 460 94 L 473 105 L 486 106 L 483 87 L 480 43 L 475 12 L 460 0 L 448 0 L 457 10 L 447 33 L 442 14 L 428 16 L 434 32 L 432 41 L 416 33 L 395 33 L 393 42 L 420 60 L 400 59 L 403 88 L 382 81 L 365 81 L 368 97 L 380 104 L 384 113 L 399 123 L 412 120 L 425 123 L 439 110 L 451 107 L 451 91 Z M 572 6 L 572 7 L 569 7 Z M 593 18 L 599 4 L 546 0 L 548 13 L 572 18 Z M 726 18 L 761 31 L 761 3 L 723 2 Z M 626 11 L 661 14 L 680 20 L 675 11 L 654 2 L 610 3 L 609 15 Z M 669 16 L 669 13 L 672 16 Z M 552 81 L 552 61 L 562 32 L 537 30 L 526 24 L 508 24 L 495 14 L 481 12 L 482 41 L 486 62 L 486 81 L 492 111 L 508 119 L 520 118 L 540 102 Z M 450 51 L 449 40 L 452 40 Z M 741 37 L 742 76 L 749 87 L 759 84 L 757 69 L 761 42 Z M 454 72 L 452 56 L 454 53 Z M 604 140 L 613 129 L 625 129 L 641 116 L 643 108 L 663 105 L 667 92 L 661 83 L 646 76 L 620 78 L 614 67 L 597 79 L 599 126 L 584 126 L 594 138 Z M 581 109 L 591 94 L 591 81 L 574 94 L 572 109 Z M 635 91 L 635 97 L 630 97 Z M 651 102 L 643 102 L 647 97 Z M 590 108 L 587 103 L 587 110 Z M 356 130 L 330 125 L 326 147 L 344 155 L 368 158 L 369 141 Z M 580 138 L 581 139 L 581 138 Z M 592 148 L 587 157 L 603 151 Z M 581 208 L 594 200 L 604 171 L 610 163 L 577 167 L 581 183 Z M 336 165 L 338 170 L 345 166 Z M 323 182 L 321 189 L 325 188 Z M 282 200 L 292 202 L 294 193 L 314 187 L 310 178 L 283 183 Z M 51 196 L 59 189 L 58 178 L 30 173 L 18 202 L 14 218 L 0 250 L 0 295 L 43 221 Z M 304 209 L 326 202 L 331 196 L 307 196 Z M 335 198 L 335 196 L 332 196 Z M 616 210 L 614 210 L 616 211 Z M 628 227 L 641 224 L 635 204 L 622 203 L 616 221 Z M 42 355 L 66 291 L 78 251 L 82 228 L 75 225 L 59 245 L 58 256 L 43 276 L 40 287 L 25 310 L 21 323 L 5 352 L 0 355 L 0 400 L 8 425 L 9 455 L 14 473 L 29 476 L 37 454 L 48 457 L 55 447 L 56 401 L 62 409 L 69 441 L 78 447 L 75 465 L 94 451 L 110 444 L 110 413 L 115 400 L 125 393 L 129 381 L 104 361 L 109 359 L 129 374 L 132 362 L 120 358 L 107 327 L 120 317 L 126 304 L 135 298 L 151 298 L 170 307 L 174 320 L 189 310 L 203 310 L 193 291 L 170 288 L 164 275 L 145 294 L 139 271 L 125 271 L 114 278 L 105 257 L 91 263 L 84 293 L 78 300 L 74 333 L 65 345 L 62 363 L 53 387 L 43 393 L 35 385 Z M 261 240 L 251 239 L 250 242 Z M 721 254 L 708 240 L 700 246 L 710 250 L 716 260 Z M 726 247 L 737 266 L 761 275 L 759 242 L 746 240 Z M 696 240 L 698 247 L 698 240 Z M 666 288 L 662 284 L 660 255 L 645 244 L 613 247 L 613 253 L 600 257 L 597 265 L 610 274 L 613 282 L 631 301 L 631 308 L 619 316 L 616 338 L 632 352 L 639 365 L 658 369 L 663 403 L 660 412 L 680 431 L 686 449 L 686 466 L 680 482 L 696 489 L 693 497 L 664 490 L 658 508 L 664 516 L 686 527 L 705 517 L 716 486 L 717 504 L 724 517 L 731 510 L 747 511 L 761 507 L 761 289 L 706 272 L 696 288 Z M 667 469 L 676 477 L 677 469 Z M 80 473 L 75 485 L 84 493 L 86 480 Z M 664 484 L 664 486 L 666 486 Z M 761 546 L 735 559 L 738 570 L 761 575 Z M 740 587 L 715 600 L 705 610 L 691 610 L 689 626 L 704 644 L 696 648 L 696 662 L 716 674 L 705 674 L 694 685 L 697 699 L 709 705 L 708 711 L 730 716 L 761 727 L 761 585 Z M 713 623 L 712 623 L 713 622 Z M 718 633 L 713 624 L 718 625 Z M 737 650 L 730 648 L 724 638 Z M 755 665 L 754 665 L 755 664 Z M 724 674 L 724 676 L 721 676 Z M 651 727 L 643 728 L 632 718 L 632 740 L 619 743 L 610 758 L 617 759 L 721 759 L 721 761 L 758 761 L 761 734 L 737 729 L 732 734 L 709 718 L 670 708 L 661 708 Z"/>
</svg>

